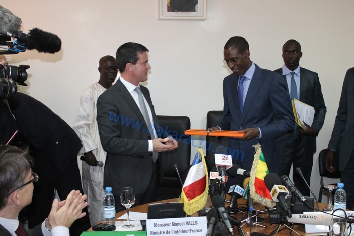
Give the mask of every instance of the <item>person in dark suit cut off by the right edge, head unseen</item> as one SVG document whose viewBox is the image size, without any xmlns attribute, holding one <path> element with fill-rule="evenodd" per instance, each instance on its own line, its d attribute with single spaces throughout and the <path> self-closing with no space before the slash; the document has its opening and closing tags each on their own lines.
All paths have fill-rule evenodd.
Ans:
<svg viewBox="0 0 354 236">
<path fill-rule="evenodd" d="M 331 139 L 328 143 L 328 152 L 325 162 L 327 170 L 332 172 L 334 167 L 333 151 L 339 152 L 339 170 L 341 181 L 346 193 L 346 208 L 354 207 L 354 68 L 348 69 L 345 74 L 342 94 L 334 123 Z"/>
</svg>

